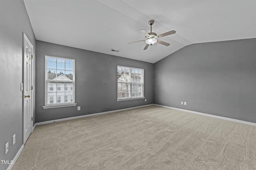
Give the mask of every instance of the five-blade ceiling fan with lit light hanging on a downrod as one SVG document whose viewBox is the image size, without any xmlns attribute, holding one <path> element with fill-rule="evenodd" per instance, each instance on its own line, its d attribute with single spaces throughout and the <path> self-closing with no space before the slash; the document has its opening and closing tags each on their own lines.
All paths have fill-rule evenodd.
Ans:
<svg viewBox="0 0 256 170">
<path fill-rule="evenodd" d="M 174 34 L 174 33 L 176 33 L 176 31 L 172 30 L 172 31 L 169 31 L 169 32 L 166 32 L 166 33 L 162 33 L 160 35 L 156 35 L 156 33 L 152 32 L 153 23 L 154 23 L 153 20 L 148 21 L 148 24 L 150 25 L 150 33 L 147 33 L 147 31 L 144 30 L 144 29 L 140 30 L 140 32 L 142 32 L 146 35 L 146 39 L 143 39 L 143 40 L 140 40 L 140 41 L 134 41 L 134 42 L 131 42 L 131 43 L 128 43 L 128 44 L 138 43 L 138 42 L 141 42 L 141 41 L 146 41 L 146 46 L 144 47 L 144 50 L 148 49 L 148 46 L 153 45 L 154 43 L 159 43 L 159 44 L 162 44 L 162 45 L 165 45 L 165 46 L 169 46 L 170 45 L 169 43 L 166 43 L 164 41 L 160 41 L 158 38 Z"/>
</svg>

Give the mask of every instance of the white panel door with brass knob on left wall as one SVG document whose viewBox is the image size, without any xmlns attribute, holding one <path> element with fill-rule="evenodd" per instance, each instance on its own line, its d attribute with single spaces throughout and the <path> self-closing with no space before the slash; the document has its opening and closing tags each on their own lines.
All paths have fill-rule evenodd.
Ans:
<svg viewBox="0 0 256 170">
<path fill-rule="evenodd" d="M 24 34 L 23 51 L 23 144 L 26 143 L 32 132 L 32 55 L 33 45 Z"/>
</svg>

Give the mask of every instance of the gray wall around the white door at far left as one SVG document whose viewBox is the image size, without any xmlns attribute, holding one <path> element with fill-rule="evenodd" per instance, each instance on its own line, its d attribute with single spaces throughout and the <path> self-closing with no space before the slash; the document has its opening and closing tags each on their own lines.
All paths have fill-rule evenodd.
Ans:
<svg viewBox="0 0 256 170">
<path fill-rule="evenodd" d="M 0 160 L 12 160 L 22 146 L 23 95 L 20 91 L 20 83 L 22 83 L 23 68 L 23 32 L 34 45 L 35 52 L 36 39 L 24 2 L 0 1 Z M 35 65 L 35 60 L 33 64 Z M 32 96 L 34 97 L 34 94 Z M 16 134 L 16 143 L 12 146 L 14 134 Z M 9 152 L 5 155 L 7 142 L 9 142 Z M 0 170 L 5 170 L 7 167 L 8 164 L 4 165 L 0 162 Z"/>
</svg>

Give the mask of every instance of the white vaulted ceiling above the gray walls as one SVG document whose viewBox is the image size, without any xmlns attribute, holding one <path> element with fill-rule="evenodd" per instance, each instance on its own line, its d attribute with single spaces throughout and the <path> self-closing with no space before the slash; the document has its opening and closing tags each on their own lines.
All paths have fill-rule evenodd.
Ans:
<svg viewBox="0 0 256 170">
<path fill-rule="evenodd" d="M 193 43 L 256 38 L 256 0 L 24 0 L 37 40 L 155 63 Z M 140 29 L 171 45 L 143 50 Z M 119 52 L 110 51 L 120 50 Z"/>
</svg>

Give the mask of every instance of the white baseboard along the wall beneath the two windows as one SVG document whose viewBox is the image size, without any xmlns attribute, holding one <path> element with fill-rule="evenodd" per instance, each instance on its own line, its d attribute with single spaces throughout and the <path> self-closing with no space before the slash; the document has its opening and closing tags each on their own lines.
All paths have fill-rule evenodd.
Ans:
<svg viewBox="0 0 256 170">
<path fill-rule="evenodd" d="M 136 108 L 140 108 L 140 107 L 147 107 L 147 106 L 153 106 L 153 105 L 154 104 L 148 104 L 148 105 L 143 105 L 143 106 L 130 107 L 130 108 L 126 108 L 126 109 L 119 109 L 119 110 L 113 110 L 113 111 L 105 111 L 105 112 L 100 112 L 100 113 L 93 113 L 93 114 L 89 114 L 89 115 L 82 115 L 82 116 L 76 116 L 76 117 L 68 117 L 68 118 L 64 118 L 64 119 L 56 119 L 56 120 L 50 120 L 50 121 L 43 121 L 43 122 L 38 122 L 35 125 L 44 125 L 44 124 L 48 124 L 48 123 L 54 123 L 54 122 L 59 122 L 59 121 L 72 120 L 72 119 L 79 119 L 79 118 L 90 117 L 90 116 L 95 116 L 95 115 L 103 115 L 103 114 L 106 114 L 106 113 L 114 113 L 114 112 L 117 112 L 117 111 L 124 111 L 124 110 L 136 109 Z"/>
</svg>

